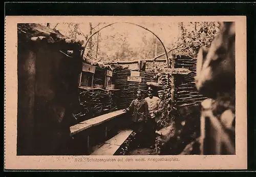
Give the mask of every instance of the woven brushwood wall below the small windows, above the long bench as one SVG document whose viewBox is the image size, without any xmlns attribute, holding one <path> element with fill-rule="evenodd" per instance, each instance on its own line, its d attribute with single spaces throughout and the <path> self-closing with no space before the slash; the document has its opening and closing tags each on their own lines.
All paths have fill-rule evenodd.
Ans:
<svg viewBox="0 0 256 177">
<path fill-rule="evenodd" d="M 117 110 L 119 92 L 117 90 L 79 89 L 80 109 L 75 116 L 84 121 Z"/>
</svg>

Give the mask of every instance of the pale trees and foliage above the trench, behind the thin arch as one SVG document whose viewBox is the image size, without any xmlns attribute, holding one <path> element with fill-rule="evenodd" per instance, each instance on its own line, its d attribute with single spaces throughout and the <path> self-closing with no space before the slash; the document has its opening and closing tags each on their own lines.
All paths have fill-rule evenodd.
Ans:
<svg viewBox="0 0 256 177">
<path fill-rule="evenodd" d="M 200 47 L 208 47 L 210 45 L 215 35 L 219 32 L 220 26 L 220 23 L 217 22 L 191 22 L 182 24 L 183 30 L 178 36 L 169 35 L 174 33 L 174 30 L 176 30 L 175 27 L 178 26 L 177 24 L 142 23 L 140 25 L 154 31 L 164 41 L 167 52 L 173 50 L 169 54 L 187 55 L 190 57 L 196 57 Z M 90 34 L 108 24 L 57 23 L 48 25 L 50 28 L 58 30 L 70 38 L 76 39 L 79 37 L 87 40 Z M 127 28 L 129 27 L 127 26 Z M 153 34 L 139 27 L 134 27 L 134 29 L 133 26 L 131 27 L 131 30 L 125 30 L 120 25 L 113 25 L 106 28 L 107 30 L 101 30 L 89 41 L 85 55 L 93 60 L 111 62 L 151 59 L 156 57 L 156 55 L 164 54 L 164 49 L 160 41 Z M 134 34 L 134 32 L 138 34 Z M 159 58 L 165 57 L 165 55 L 161 55 Z"/>
</svg>

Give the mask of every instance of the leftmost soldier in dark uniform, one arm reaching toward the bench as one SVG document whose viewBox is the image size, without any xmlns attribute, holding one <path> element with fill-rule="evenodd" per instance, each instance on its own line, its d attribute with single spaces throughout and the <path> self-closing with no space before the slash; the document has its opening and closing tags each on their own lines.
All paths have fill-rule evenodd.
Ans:
<svg viewBox="0 0 256 177">
<path fill-rule="evenodd" d="M 148 118 L 148 105 L 145 99 L 142 98 L 142 92 L 137 90 L 137 99 L 133 100 L 130 106 L 124 111 L 132 112 L 132 129 L 137 133 L 137 141 L 140 144 L 143 144 L 145 137 L 144 134 L 144 125 Z"/>
</svg>

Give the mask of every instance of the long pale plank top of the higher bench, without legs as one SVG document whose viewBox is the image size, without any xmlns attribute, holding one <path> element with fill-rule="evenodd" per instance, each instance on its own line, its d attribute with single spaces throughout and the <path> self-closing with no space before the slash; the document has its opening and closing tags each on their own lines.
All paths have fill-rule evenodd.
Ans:
<svg viewBox="0 0 256 177">
<path fill-rule="evenodd" d="M 126 112 L 124 112 L 123 109 L 121 109 L 121 110 L 116 110 L 115 112 L 112 112 L 112 113 L 104 114 L 104 115 L 101 115 L 101 116 L 98 116 L 98 117 L 80 122 L 80 123 L 70 127 L 71 135 L 75 135 L 80 131 L 83 131 L 83 130 L 85 130 L 87 128 L 90 128 L 92 126 L 99 125 L 103 122 L 106 122 L 106 121 L 109 121 L 113 118 L 124 115 L 125 113 Z"/>
</svg>

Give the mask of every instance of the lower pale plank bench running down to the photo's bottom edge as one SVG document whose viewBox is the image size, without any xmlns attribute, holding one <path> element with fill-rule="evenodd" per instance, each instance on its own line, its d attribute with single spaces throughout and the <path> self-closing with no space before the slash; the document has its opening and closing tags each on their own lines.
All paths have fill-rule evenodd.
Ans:
<svg viewBox="0 0 256 177">
<path fill-rule="evenodd" d="M 120 131 L 115 137 L 105 141 L 105 143 L 91 155 L 113 155 L 123 142 L 132 134 L 132 132 L 133 130 L 130 129 Z"/>
</svg>

